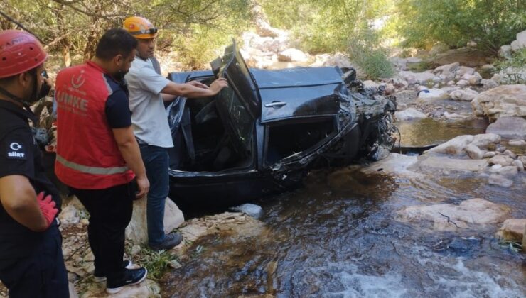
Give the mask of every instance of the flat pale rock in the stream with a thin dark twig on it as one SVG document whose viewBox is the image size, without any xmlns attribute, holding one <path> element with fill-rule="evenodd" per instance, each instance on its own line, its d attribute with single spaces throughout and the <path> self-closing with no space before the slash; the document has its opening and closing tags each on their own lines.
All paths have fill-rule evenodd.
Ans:
<svg viewBox="0 0 526 298">
<path fill-rule="evenodd" d="M 485 199 L 468 199 L 459 205 L 407 206 L 396 212 L 395 219 L 419 225 L 429 223 L 429 228 L 438 231 L 457 231 L 503 222 L 509 213 L 507 206 Z"/>
</svg>

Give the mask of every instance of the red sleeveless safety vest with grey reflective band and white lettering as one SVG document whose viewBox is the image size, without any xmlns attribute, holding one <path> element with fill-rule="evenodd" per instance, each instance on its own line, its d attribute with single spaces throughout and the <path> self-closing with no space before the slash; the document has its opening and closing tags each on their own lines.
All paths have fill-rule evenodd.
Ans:
<svg viewBox="0 0 526 298">
<path fill-rule="evenodd" d="M 105 189 L 134 178 L 106 118 L 108 96 L 119 88 L 93 62 L 58 73 L 55 174 L 64 184 L 77 189 Z"/>
</svg>

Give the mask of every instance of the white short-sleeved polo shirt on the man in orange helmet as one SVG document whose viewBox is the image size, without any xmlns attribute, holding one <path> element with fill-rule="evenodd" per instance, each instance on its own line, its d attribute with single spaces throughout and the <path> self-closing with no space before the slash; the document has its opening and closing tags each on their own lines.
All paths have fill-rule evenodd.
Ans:
<svg viewBox="0 0 526 298">
<path fill-rule="evenodd" d="M 125 78 L 136 138 L 148 145 L 173 147 L 168 116 L 161 97 L 161 90 L 170 81 L 155 72 L 151 60 L 139 57 L 132 62 Z"/>
</svg>

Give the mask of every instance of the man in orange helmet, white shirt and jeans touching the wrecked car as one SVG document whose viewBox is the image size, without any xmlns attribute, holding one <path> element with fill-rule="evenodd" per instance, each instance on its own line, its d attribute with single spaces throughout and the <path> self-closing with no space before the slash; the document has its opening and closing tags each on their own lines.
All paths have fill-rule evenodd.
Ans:
<svg viewBox="0 0 526 298">
<path fill-rule="evenodd" d="M 172 101 L 176 96 L 214 96 L 227 87 L 227 81 L 216 79 L 210 87 L 195 81 L 186 84 L 171 82 L 156 72 L 150 59 L 154 56 L 157 28 L 146 18 L 138 16 L 127 18 L 124 28 L 138 41 L 137 57 L 126 80 L 134 133 L 150 182 L 146 204 L 148 242 L 154 250 L 168 250 L 181 243 L 182 236 L 179 233 L 165 235 L 163 226 L 164 200 L 168 197 L 169 187 L 168 148 L 173 147 L 163 102 Z"/>
</svg>

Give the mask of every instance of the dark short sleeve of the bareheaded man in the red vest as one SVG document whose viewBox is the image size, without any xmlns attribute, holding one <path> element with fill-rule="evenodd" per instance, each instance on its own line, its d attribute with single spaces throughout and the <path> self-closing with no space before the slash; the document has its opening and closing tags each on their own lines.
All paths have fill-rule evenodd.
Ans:
<svg viewBox="0 0 526 298">
<path fill-rule="evenodd" d="M 106 101 L 106 118 L 109 127 L 125 128 L 132 125 L 128 96 L 122 90 L 113 92 Z"/>
</svg>

